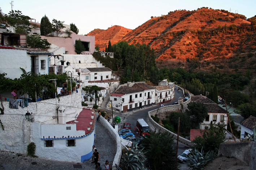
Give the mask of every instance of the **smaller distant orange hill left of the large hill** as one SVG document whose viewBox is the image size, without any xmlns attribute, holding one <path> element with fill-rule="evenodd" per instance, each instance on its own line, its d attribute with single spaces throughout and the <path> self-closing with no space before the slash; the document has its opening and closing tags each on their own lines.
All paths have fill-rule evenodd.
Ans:
<svg viewBox="0 0 256 170">
<path fill-rule="evenodd" d="M 131 29 L 121 26 L 112 26 L 107 30 L 94 29 L 88 36 L 95 36 L 95 46 L 98 45 L 100 50 L 105 50 L 105 46 L 108 45 L 110 40 L 111 44 L 119 42 L 127 33 L 131 32 Z"/>
</svg>

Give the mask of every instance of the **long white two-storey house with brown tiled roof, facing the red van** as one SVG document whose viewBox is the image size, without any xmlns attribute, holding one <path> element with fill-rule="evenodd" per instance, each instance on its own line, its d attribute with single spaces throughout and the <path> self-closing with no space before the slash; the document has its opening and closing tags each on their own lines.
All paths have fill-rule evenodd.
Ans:
<svg viewBox="0 0 256 170">
<path fill-rule="evenodd" d="M 155 88 L 145 82 L 127 82 L 110 94 L 113 107 L 121 113 L 155 104 Z"/>
</svg>

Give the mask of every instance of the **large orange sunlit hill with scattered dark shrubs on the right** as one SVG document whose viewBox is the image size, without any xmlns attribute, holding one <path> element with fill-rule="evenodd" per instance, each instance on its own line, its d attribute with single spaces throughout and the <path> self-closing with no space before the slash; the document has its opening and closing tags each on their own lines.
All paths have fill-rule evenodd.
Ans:
<svg viewBox="0 0 256 170">
<path fill-rule="evenodd" d="M 151 18 L 127 33 L 122 41 L 129 44 L 149 44 L 155 49 L 159 68 L 173 67 L 175 63 L 188 68 L 197 63 L 197 67 L 209 67 L 211 70 L 212 65 L 207 61 L 214 63 L 224 59 L 228 62 L 227 58 L 238 57 L 235 60 L 241 63 L 239 59 L 245 59 L 250 52 L 253 53 L 250 57 L 255 56 L 255 30 L 256 27 L 251 26 L 251 22 L 245 20 L 244 15 L 207 8 L 194 11 L 176 10 L 168 15 Z M 243 65 L 255 69 L 253 58 L 249 61 L 251 65 Z M 223 64 L 223 61 L 219 64 Z M 231 64 L 229 67 L 234 70 L 238 68 Z M 220 69 L 223 69 L 222 66 Z"/>
</svg>

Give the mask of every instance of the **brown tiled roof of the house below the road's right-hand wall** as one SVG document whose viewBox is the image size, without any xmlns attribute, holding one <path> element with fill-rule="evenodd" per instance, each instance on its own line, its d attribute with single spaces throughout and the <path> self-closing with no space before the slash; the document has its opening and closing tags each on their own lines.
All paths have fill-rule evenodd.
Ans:
<svg viewBox="0 0 256 170">
<path fill-rule="evenodd" d="M 191 102 L 204 103 L 208 113 L 227 113 L 227 111 L 203 95 L 191 96 Z"/>
</svg>

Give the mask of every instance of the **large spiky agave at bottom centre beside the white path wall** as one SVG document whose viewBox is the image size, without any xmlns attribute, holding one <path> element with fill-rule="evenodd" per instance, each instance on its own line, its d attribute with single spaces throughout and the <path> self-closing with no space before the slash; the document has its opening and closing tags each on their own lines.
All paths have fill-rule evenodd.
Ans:
<svg viewBox="0 0 256 170">
<path fill-rule="evenodd" d="M 144 170 L 143 163 L 145 161 L 145 156 L 144 153 L 142 152 L 143 149 L 139 150 L 137 143 L 135 143 L 133 147 L 123 151 L 120 161 L 120 166 L 122 167 L 122 169 Z"/>
</svg>

